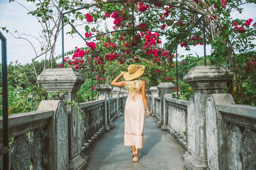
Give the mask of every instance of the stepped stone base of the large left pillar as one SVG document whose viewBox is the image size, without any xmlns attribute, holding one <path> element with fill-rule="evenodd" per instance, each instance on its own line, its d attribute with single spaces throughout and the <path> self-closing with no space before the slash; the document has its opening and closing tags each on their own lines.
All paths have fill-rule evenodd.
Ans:
<svg viewBox="0 0 256 170">
<path fill-rule="evenodd" d="M 88 163 L 88 156 L 85 153 L 78 155 L 73 159 L 69 160 L 69 170 L 84 170 Z"/>
</svg>

